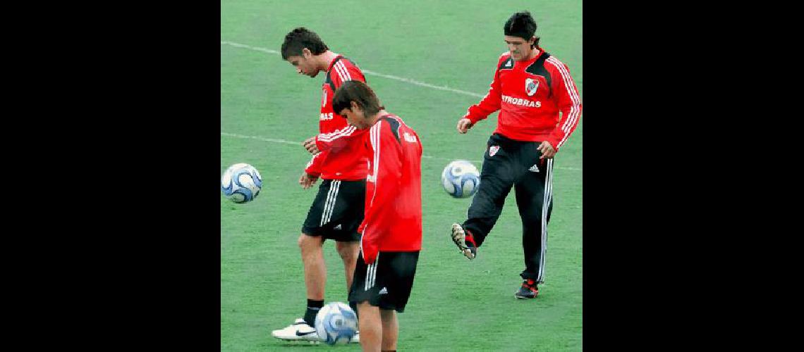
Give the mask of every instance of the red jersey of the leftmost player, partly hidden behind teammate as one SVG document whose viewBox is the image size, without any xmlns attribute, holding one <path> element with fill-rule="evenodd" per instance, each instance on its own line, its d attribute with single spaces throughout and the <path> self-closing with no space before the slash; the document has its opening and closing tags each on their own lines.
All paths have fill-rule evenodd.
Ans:
<svg viewBox="0 0 804 352">
<path fill-rule="evenodd" d="M 365 83 L 366 77 L 349 59 L 338 55 L 326 69 L 322 86 L 321 117 L 318 121 L 320 133 L 342 131 L 348 127 L 347 119 L 332 111 L 332 97 L 338 87 L 349 80 Z M 367 174 L 367 158 L 356 149 L 356 144 L 343 144 L 341 148 L 322 150 L 313 156 L 305 172 L 321 176 L 325 180 L 364 180 Z"/>
</svg>

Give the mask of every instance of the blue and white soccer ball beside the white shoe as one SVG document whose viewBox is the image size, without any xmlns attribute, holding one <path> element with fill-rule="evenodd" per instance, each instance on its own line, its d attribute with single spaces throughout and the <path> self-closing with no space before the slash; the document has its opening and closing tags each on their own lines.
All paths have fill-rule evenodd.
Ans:
<svg viewBox="0 0 804 352">
<path fill-rule="evenodd" d="M 348 343 L 357 333 L 357 314 L 349 305 L 330 302 L 318 310 L 315 332 L 329 345 Z"/>
</svg>

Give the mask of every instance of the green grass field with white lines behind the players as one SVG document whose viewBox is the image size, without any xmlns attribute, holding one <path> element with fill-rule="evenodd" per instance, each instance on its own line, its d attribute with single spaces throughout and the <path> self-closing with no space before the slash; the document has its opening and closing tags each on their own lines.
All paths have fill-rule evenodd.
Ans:
<svg viewBox="0 0 804 352">
<path fill-rule="evenodd" d="M 359 350 L 291 345 L 270 331 L 300 318 L 306 303 L 297 237 L 316 188 L 297 184 L 318 131 L 323 74 L 297 75 L 278 51 L 289 30 L 307 26 L 366 72 L 388 111 L 416 129 L 424 146 L 424 236 L 400 350 L 582 350 L 583 121 L 556 156 L 554 209 L 545 283 L 535 300 L 516 300 L 523 269 L 521 222 L 513 199 L 475 261 L 449 240 L 469 199 L 441 189 L 454 159 L 481 166 L 496 113 L 459 135 L 455 124 L 486 94 L 502 27 L 530 10 L 541 46 L 567 63 L 583 96 L 581 2 L 548 1 L 222 1 L 220 171 L 248 163 L 264 187 L 249 204 L 220 200 L 221 350 Z M 441 87 L 439 89 L 438 87 Z M 326 301 L 346 301 L 343 265 L 325 243 Z"/>
</svg>

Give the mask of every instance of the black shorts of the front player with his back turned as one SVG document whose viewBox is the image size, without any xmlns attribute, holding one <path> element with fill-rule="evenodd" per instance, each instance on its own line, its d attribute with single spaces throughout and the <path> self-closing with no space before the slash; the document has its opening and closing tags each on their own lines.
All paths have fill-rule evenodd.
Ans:
<svg viewBox="0 0 804 352">
<path fill-rule="evenodd" d="M 374 263 L 366 265 L 361 252 L 355 265 L 349 301 L 368 301 L 381 310 L 404 312 L 418 261 L 419 252 L 379 252 Z"/>
</svg>

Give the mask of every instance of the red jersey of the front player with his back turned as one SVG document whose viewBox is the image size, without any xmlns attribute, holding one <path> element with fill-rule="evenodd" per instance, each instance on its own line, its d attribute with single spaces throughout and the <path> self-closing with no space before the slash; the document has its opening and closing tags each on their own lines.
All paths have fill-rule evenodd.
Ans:
<svg viewBox="0 0 804 352">
<path fill-rule="evenodd" d="M 379 251 L 421 249 L 421 142 L 399 116 L 383 115 L 363 134 L 369 156 L 366 210 L 358 232 L 366 264 Z"/>
</svg>

